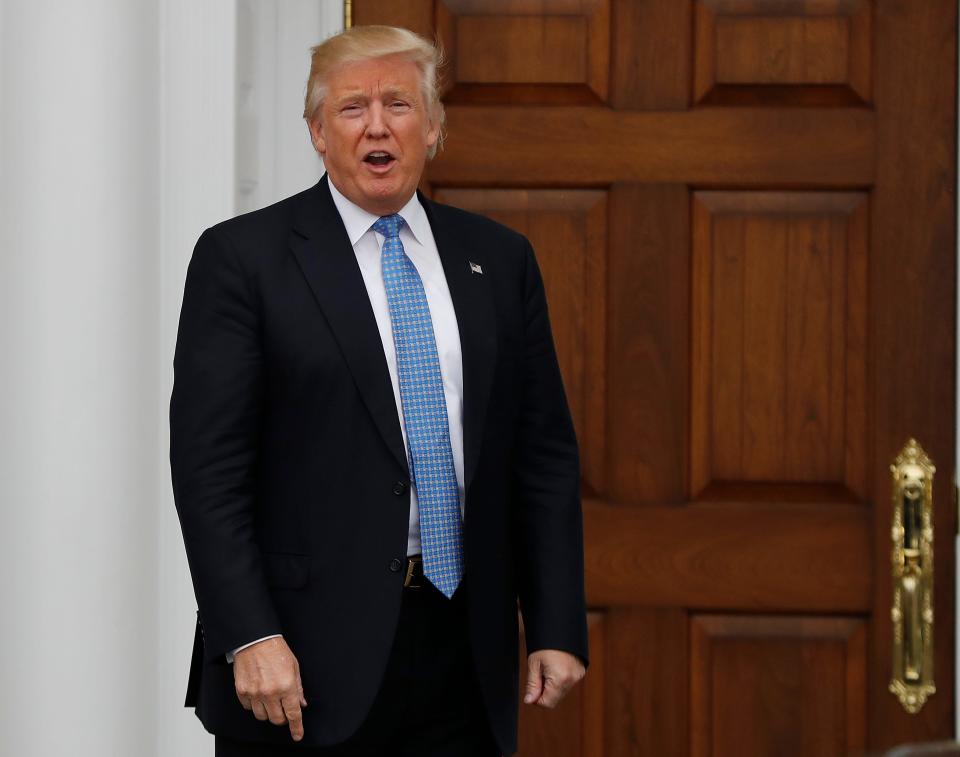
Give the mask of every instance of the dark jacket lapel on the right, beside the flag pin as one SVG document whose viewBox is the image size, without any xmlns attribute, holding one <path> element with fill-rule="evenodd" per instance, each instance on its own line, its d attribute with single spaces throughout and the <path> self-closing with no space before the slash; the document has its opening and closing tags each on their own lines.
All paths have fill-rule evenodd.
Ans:
<svg viewBox="0 0 960 757">
<path fill-rule="evenodd" d="M 469 492 L 476 473 L 483 441 L 484 420 L 490 398 L 490 385 L 497 357 L 496 311 L 487 273 L 475 273 L 470 263 L 489 272 L 482 249 L 471 249 L 463 229 L 456 229 L 443 205 L 419 194 L 420 203 L 430 219 L 447 287 L 453 300 L 460 329 L 463 356 L 463 448 L 464 491 Z M 469 498 L 468 498 L 469 499 Z"/>
</svg>

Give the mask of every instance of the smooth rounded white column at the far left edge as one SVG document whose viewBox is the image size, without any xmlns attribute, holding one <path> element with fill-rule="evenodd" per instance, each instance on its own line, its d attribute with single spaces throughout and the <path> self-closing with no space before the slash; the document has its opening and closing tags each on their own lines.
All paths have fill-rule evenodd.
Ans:
<svg viewBox="0 0 960 757">
<path fill-rule="evenodd" d="M 154 755 L 154 2 L 0 24 L 0 753 Z"/>
</svg>

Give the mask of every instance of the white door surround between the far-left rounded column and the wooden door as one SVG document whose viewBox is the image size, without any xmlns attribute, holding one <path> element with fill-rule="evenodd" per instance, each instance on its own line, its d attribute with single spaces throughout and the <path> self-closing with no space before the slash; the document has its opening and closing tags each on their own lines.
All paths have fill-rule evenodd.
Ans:
<svg viewBox="0 0 960 757">
<path fill-rule="evenodd" d="M 255 5 L 160 0 L 158 757 L 213 754 L 213 739 L 183 707 L 196 603 L 167 460 L 173 351 L 187 263 L 204 228 L 249 209 L 236 204 L 243 175 L 258 182 L 258 204 L 319 177 L 322 166 L 300 118 L 308 49 L 339 30 L 343 18 L 340 0 Z M 260 72 L 253 83 L 262 86 L 247 86 L 249 71 Z M 254 90 L 256 96 L 246 99 Z"/>
</svg>

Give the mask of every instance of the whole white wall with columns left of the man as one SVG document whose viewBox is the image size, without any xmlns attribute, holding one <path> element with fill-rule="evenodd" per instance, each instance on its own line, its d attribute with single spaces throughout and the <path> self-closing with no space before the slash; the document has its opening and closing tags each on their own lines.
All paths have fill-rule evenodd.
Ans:
<svg viewBox="0 0 960 757">
<path fill-rule="evenodd" d="M 266 204 L 319 175 L 288 106 L 342 4 L 253 1 L 256 81 L 291 88 L 251 111 Z M 193 243 L 239 195 L 237 2 L 0 0 L 3 755 L 213 754 L 167 407 Z"/>
</svg>

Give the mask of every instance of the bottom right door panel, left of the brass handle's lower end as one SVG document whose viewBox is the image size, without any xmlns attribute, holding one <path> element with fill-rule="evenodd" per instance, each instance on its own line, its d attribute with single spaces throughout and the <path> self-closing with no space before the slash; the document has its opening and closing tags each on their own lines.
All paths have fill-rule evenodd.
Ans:
<svg viewBox="0 0 960 757">
<path fill-rule="evenodd" d="M 692 755 L 863 751 L 863 619 L 698 614 L 690 634 Z"/>
</svg>

